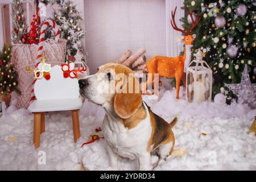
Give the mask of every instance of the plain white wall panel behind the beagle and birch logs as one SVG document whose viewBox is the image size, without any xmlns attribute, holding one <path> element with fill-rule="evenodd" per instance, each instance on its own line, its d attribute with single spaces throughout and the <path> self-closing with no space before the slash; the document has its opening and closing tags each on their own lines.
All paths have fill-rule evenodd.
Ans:
<svg viewBox="0 0 256 182">
<path fill-rule="evenodd" d="M 166 55 L 165 0 L 85 0 L 85 46 L 91 73 L 126 49 Z"/>
</svg>

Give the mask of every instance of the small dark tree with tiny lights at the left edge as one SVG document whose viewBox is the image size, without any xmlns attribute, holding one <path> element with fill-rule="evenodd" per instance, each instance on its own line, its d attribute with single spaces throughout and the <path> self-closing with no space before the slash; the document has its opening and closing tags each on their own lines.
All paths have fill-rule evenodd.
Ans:
<svg viewBox="0 0 256 182">
<path fill-rule="evenodd" d="M 14 71 L 14 65 L 10 64 L 11 46 L 3 46 L 0 51 L 0 92 L 1 94 L 9 94 L 14 90 L 19 93 L 17 89 L 18 75 Z"/>
</svg>

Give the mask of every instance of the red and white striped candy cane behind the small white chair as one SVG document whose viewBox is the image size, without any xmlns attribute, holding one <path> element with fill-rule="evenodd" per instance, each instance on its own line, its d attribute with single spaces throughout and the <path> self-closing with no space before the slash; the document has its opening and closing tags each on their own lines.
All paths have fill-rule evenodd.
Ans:
<svg viewBox="0 0 256 182">
<path fill-rule="evenodd" d="M 60 39 L 60 27 L 55 23 L 53 19 L 46 20 L 41 27 L 40 31 L 40 38 L 39 38 L 39 44 L 38 44 L 38 52 L 36 55 L 36 64 L 35 64 L 35 70 L 38 69 L 38 65 L 40 61 L 42 61 L 43 56 L 43 42 L 44 42 L 44 35 L 46 34 L 46 28 L 52 26 L 53 30 L 55 32 L 55 41 L 58 42 Z M 35 85 L 36 79 L 32 82 L 32 90 L 31 90 L 31 96 L 30 96 L 30 104 L 36 99 L 35 93 L 34 93 L 34 85 Z"/>
</svg>

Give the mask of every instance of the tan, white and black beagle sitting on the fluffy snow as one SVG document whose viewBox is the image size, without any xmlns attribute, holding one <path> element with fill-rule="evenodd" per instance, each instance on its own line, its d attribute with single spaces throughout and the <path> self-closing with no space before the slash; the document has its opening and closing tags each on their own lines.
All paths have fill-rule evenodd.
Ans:
<svg viewBox="0 0 256 182">
<path fill-rule="evenodd" d="M 113 170 L 117 170 L 117 155 L 138 159 L 141 170 L 152 169 L 152 151 L 160 159 L 171 155 L 175 144 L 171 129 L 177 117 L 168 123 L 151 111 L 142 100 L 139 81 L 130 68 L 117 63 L 102 65 L 95 75 L 79 80 L 79 87 L 81 96 L 106 112 L 102 131 Z"/>
</svg>

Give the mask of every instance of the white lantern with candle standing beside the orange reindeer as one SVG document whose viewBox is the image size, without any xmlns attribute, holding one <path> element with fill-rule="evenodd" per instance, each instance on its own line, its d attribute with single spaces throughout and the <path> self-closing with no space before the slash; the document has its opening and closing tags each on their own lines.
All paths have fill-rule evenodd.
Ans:
<svg viewBox="0 0 256 182">
<path fill-rule="evenodd" d="M 193 60 L 187 67 L 186 73 L 186 100 L 188 102 L 201 103 L 212 101 L 212 69 L 203 60 L 199 49 Z"/>
</svg>

